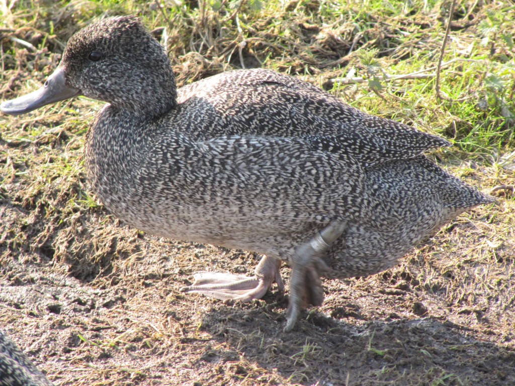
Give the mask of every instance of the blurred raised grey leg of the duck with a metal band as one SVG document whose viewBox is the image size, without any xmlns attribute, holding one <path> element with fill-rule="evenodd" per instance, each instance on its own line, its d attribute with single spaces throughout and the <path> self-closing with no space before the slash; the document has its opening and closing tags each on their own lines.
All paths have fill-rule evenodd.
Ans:
<svg viewBox="0 0 515 386">
<path fill-rule="evenodd" d="M 330 271 L 322 257 L 344 234 L 347 223 L 331 223 L 295 251 L 291 261 L 288 309 L 284 331 L 290 331 L 308 304 L 319 306 L 324 299 L 320 276 Z"/>
</svg>

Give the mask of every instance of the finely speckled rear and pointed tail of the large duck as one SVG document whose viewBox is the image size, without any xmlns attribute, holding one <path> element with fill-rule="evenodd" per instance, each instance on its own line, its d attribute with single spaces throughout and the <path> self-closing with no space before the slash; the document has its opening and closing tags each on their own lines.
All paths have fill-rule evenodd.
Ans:
<svg viewBox="0 0 515 386">
<path fill-rule="evenodd" d="M 332 268 L 330 277 L 364 276 L 390 268 L 450 219 L 492 202 L 423 155 L 368 169 L 364 190 L 363 221 L 350 222 L 345 241 L 325 259 Z"/>
</svg>

